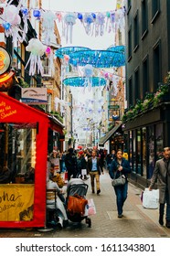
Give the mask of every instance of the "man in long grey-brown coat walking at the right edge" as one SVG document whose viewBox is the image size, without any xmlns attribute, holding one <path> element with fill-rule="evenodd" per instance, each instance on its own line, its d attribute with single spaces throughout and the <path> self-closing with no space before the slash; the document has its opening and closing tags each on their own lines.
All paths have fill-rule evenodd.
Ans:
<svg viewBox="0 0 170 256">
<path fill-rule="evenodd" d="M 166 224 L 170 229 L 170 148 L 165 147 L 163 152 L 164 157 L 155 163 L 154 174 L 151 178 L 149 190 L 152 190 L 154 183 L 157 181 L 159 188 L 159 224 L 164 225 L 164 212 L 166 203 Z"/>
</svg>

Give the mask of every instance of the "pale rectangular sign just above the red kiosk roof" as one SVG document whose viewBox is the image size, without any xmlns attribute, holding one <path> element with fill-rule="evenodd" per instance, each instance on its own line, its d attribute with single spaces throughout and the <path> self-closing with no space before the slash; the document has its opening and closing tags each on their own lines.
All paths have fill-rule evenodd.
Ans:
<svg viewBox="0 0 170 256">
<path fill-rule="evenodd" d="M 47 88 L 22 88 L 21 101 L 26 104 L 48 104 Z"/>
</svg>

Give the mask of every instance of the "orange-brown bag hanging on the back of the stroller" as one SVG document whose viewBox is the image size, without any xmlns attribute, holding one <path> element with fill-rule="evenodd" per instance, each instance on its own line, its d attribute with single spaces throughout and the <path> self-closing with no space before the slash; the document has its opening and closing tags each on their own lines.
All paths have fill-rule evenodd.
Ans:
<svg viewBox="0 0 170 256">
<path fill-rule="evenodd" d="M 69 215 L 73 216 L 79 214 L 80 216 L 84 215 L 85 206 L 88 204 L 88 200 L 80 197 L 78 194 L 74 196 L 69 196 L 68 198 L 68 212 Z"/>
</svg>

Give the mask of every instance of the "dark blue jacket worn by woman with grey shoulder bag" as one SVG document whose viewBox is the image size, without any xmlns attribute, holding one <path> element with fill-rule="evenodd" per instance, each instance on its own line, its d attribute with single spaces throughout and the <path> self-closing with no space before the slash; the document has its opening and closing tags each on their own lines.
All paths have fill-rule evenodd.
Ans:
<svg viewBox="0 0 170 256">
<path fill-rule="evenodd" d="M 129 161 L 127 161 L 125 158 L 122 157 L 122 171 L 118 171 L 117 172 L 117 169 L 119 167 L 119 163 L 117 162 L 117 159 L 113 159 L 112 160 L 112 164 L 110 166 L 110 169 L 109 169 L 109 175 L 111 176 L 111 178 L 113 179 L 114 176 L 115 176 L 115 173 L 116 173 L 116 178 L 119 177 L 120 175 L 124 175 L 126 177 L 126 180 L 127 180 L 127 176 L 128 174 L 131 173 L 131 166 L 129 164 Z"/>
</svg>

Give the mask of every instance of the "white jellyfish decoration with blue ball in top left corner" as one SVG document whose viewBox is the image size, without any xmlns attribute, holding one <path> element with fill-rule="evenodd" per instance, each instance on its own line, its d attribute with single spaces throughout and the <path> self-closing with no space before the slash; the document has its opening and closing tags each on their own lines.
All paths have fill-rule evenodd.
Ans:
<svg viewBox="0 0 170 256">
<path fill-rule="evenodd" d="M 21 17 L 18 13 L 19 9 L 15 5 L 6 5 L 2 15 L 2 26 L 5 28 L 5 37 L 13 37 L 14 44 L 17 41 L 23 42 L 23 38 L 19 35 L 23 31 L 19 28 Z"/>
</svg>

